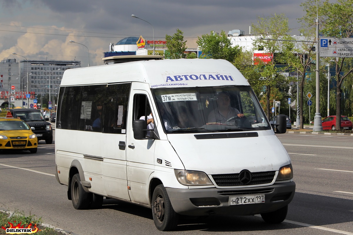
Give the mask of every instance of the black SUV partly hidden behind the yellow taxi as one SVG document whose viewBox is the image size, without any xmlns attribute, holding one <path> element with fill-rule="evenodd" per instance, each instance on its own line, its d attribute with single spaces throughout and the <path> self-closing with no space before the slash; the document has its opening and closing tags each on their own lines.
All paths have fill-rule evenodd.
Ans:
<svg viewBox="0 0 353 235">
<path fill-rule="evenodd" d="M 52 124 L 46 122 L 40 110 L 37 109 L 9 109 L 14 118 L 24 120 L 33 133 L 37 135 L 38 141 L 45 140 L 47 144 L 53 143 Z M 49 120 L 49 118 L 47 118 Z M 33 128 L 34 127 L 34 130 Z"/>
</svg>

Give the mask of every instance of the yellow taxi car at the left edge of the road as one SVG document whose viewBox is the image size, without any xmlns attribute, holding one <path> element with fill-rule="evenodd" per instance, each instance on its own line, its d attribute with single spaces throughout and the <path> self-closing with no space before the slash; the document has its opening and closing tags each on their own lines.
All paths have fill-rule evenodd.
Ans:
<svg viewBox="0 0 353 235">
<path fill-rule="evenodd" d="M 38 139 L 31 128 L 11 112 L 0 113 L 0 152 L 7 149 L 29 150 L 37 153 Z"/>
</svg>

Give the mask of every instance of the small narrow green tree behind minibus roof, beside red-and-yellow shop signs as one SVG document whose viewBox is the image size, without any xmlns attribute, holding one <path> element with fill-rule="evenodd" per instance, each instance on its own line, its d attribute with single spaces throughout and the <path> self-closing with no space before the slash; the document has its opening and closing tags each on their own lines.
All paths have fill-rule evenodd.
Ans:
<svg viewBox="0 0 353 235">
<path fill-rule="evenodd" d="M 168 48 L 164 55 L 166 59 L 179 59 L 185 58 L 186 42 L 183 41 L 183 32 L 177 29 L 173 36 L 166 35 L 166 47 Z"/>
</svg>

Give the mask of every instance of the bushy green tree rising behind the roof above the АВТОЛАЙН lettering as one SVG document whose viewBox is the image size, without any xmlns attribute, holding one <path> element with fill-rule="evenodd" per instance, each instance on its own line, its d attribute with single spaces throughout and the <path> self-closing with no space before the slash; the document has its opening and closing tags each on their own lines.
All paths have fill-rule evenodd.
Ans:
<svg viewBox="0 0 353 235">
<path fill-rule="evenodd" d="M 223 59 L 234 62 L 234 58 L 241 52 L 239 45 L 232 46 L 231 40 L 223 30 L 220 35 L 213 31 L 209 35 L 204 34 L 198 37 L 196 43 L 203 53 L 203 58 Z"/>
</svg>

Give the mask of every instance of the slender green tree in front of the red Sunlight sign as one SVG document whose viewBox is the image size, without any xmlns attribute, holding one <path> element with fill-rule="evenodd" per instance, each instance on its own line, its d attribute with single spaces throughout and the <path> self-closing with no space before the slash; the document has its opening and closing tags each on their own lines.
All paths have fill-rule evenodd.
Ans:
<svg viewBox="0 0 353 235">
<path fill-rule="evenodd" d="M 282 73 L 289 69 L 286 64 L 288 56 L 292 54 L 293 43 L 276 40 L 292 40 L 293 38 L 287 35 L 288 19 L 284 14 L 274 14 L 269 18 L 258 17 L 257 25 L 252 24 L 252 29 L 258 35 L 253 41 L 254 48 L 263 49 L 263 53 L 270 56 L 268 62 L 255 60 L 254 63 L 257 71 L 261 73 L 258 85 L 265 87 L 266 114 L 269 118 L 271 87 L 290 82 Z M 277 64 L 283 64 L 283 66 L 279 67 Z"/>
</svg>

